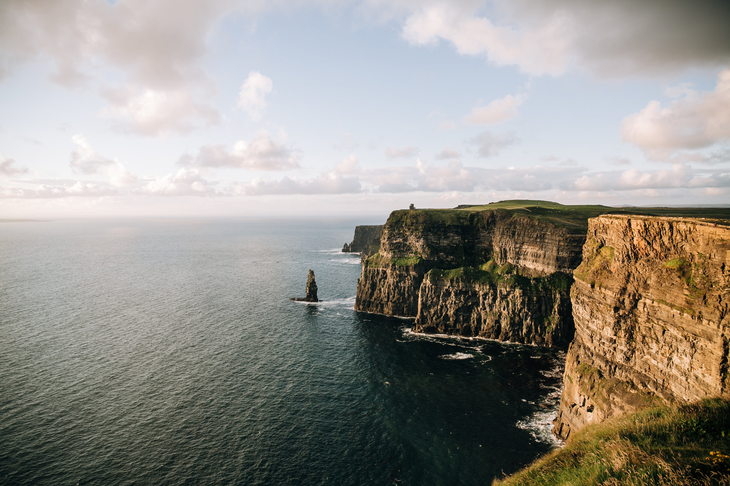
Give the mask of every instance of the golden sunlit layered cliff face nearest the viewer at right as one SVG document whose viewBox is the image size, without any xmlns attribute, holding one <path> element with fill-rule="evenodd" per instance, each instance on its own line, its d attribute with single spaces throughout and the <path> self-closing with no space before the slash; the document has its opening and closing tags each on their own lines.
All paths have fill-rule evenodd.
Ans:
<svg viewBox="0 0 730 486">
<path fill-rule="evenodd" d="M 730 229 L 691 219 L 599 216 L 575 270 L 554 429 L 655 401 L 728 393 Z"/>
</svg>

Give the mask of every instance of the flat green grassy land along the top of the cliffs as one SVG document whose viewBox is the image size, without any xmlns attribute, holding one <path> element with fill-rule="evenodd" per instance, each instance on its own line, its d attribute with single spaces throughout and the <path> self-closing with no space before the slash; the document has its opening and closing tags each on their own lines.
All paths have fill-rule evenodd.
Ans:
<svg viewBox="0 0 730 486">
<path fill-rule="evenodd" d="M 416 211 L 405 209 L 397 212 L 404 213 L 402 216 L 405 218 L 423 219 L 423 222 L 439 221 L 449 224 L 467 224 L 469 213 L 497 209 L 568 227 L 578 233 L 588 231 L 588 218 L 595 218 L 602 214 L 702 218 L 707 219 L 709 222 L 730 226 L 730 208 L 611 208 L 604 205 L 564 205 L 550 201 L 524 199 L 499 201 L 499 203 L 476 205 L 463 209 L 423 209 Z"/>
</svg>

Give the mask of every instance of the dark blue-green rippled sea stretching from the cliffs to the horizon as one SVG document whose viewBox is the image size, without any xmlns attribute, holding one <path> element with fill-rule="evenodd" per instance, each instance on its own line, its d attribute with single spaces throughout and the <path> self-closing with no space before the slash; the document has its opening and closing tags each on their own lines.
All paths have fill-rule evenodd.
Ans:
<svg viewBox="0 0 730 486">
<path fill-rule="evenodd" d="M 564 353 L 353 310 L 332 248 L 378 223 L 0 224 L 0 484 L 485 485 L 554 447 Z"/>
</svg>

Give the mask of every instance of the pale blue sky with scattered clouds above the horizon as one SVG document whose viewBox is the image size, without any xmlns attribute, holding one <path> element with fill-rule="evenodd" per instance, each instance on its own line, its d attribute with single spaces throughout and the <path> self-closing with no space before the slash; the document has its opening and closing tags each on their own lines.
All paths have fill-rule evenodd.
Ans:
<svg viewBox="0 0 730 486">
<path fill-rule="evenodd" d="M 0 217 L 730 203 L 730 4 L 2 0 Z"/>
</svg>

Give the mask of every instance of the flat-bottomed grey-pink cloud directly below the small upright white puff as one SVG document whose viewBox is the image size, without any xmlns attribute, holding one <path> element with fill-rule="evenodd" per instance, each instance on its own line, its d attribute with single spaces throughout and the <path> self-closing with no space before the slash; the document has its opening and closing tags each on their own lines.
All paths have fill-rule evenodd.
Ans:
<svg viewBox="0 0 730 486">
<path fill-rule="evenodd" d="M 261 131 L 247 142 L 239 140 L 228 152 L 225 145 L 204 145 L 195 157 L 180 157 L 180 165 L 197 167 L 234 167 L 255 171 L 285 171 L 299 168 L 299 152 L 275 141 Z"/>
</svg>

